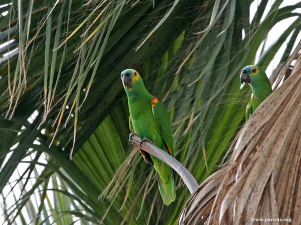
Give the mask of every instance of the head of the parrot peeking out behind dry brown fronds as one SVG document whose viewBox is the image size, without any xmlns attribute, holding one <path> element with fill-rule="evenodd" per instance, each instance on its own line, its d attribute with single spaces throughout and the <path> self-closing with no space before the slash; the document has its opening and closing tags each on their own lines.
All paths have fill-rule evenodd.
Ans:
<svg viewBox="0 0 301 225">
<path fill-rule="evenodd" d="M 243 67 L 240 74 L 241 83 L 248 83 L 250 86 L 261 81 L 268 80 L 264 70 L 257 65 L 247 65 Z"/>
</svg>

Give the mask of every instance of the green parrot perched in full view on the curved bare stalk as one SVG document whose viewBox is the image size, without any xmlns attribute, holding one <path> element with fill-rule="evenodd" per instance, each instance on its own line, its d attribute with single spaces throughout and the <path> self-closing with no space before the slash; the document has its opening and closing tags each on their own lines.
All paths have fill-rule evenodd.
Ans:
<svg viewBox="0 0 301 225">
<path fill-rule="evenodd" d="M 136 70 L 123 70 L 121 80 L 128 100 L 130 131 L 143 137 L 141 141 L 149 139 L 175 156 L 172 124 L 163 101 L 146 90 Z M 172 168 L 146 151 L 140 149 L 140 152 L 145 162 L 154 165 L 162 199 L 166 205 L 169 205 L 176 198 Z"/>
</svg>

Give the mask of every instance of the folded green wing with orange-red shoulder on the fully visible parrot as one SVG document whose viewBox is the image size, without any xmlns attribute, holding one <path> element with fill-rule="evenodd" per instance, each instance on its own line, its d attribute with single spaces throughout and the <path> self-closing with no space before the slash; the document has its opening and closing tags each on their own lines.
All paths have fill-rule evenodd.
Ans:
<svg viewBox="0 0 301 225">
<path fill-rule="evenodd" d="M 151 103 L 157 129 L 165 140 L 171 155 L 175 156 L 173 129 L 168 110 L 158 97 L 154 97 Z"/>
</svg>

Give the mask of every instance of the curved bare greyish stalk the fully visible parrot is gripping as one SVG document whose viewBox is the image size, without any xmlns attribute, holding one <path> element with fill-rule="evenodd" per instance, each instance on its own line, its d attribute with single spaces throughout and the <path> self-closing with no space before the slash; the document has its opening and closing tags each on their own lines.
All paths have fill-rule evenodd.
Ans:
<svg viewBox="0 0 301 225">
<path fill-rule="evenodd" d="M 188 171 L 188 169 L 185 168 L 184 165 L 182 165 L 176 158 L 174 158 L 161 148 L 157 147 L 153 142 L 150 142 L 148 140 L 141 142 L 140 140 L 141 137 L 137 136 L 135 133 L 130 133 L 129 141 L 132 145 L 148 152 L 149 154 L 154 155 L 156 158 L 159 158 L 160 160 L 171 166 L 181 176 L 190 193 L 193 193 L 197 189 L 199 184 L 196 179 L 193 177 L 190 171 Z"/>
</svg>

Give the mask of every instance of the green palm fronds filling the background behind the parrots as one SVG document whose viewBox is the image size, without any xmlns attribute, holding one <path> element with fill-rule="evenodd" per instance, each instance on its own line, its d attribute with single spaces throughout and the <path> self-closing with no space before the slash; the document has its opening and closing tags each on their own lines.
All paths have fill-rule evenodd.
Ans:
<svg viewBox="0 0 301 225">
<path fill-rule="evenodd" d="M 287 40 L 285 61 L 300 31 L 300 3 L 267 2 L 250 21 L 245 0 L 2 0 L 3 220 L 175 224 L 190 193 L 176 176 L 164 206 L 153 168 L 128 146 L 120 71 L 136 68 L 166 102 L 176 158 L 201 183 L 244 123 L 241 67 L 278 21 L 296 17 L 258 51 L 263 68 Z"/>
</svg>

